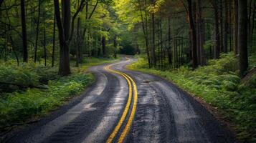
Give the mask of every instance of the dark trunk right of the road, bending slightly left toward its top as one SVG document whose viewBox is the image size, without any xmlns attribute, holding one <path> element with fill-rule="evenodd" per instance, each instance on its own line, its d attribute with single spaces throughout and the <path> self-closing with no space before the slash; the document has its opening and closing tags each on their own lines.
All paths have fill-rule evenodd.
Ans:
<svg viewBox="0 0 256 143">
<path fill-rule="evenodd" d="M 191 31 L 191 41 L 192 41 L 192 61 L 193 69 L 196 69 L 197 64 L 197 53 L 196 53 L 196 29 L 194 26 L 194 19 L 192 14 L 192 4 L 191 0 L 187 0 L 189 4 L 189 30 Z"/>
</svg>

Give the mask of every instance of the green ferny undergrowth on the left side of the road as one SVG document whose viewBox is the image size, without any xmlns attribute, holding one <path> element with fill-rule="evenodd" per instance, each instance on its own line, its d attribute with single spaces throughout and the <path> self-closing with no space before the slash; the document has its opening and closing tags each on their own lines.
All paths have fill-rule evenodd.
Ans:
<svg viewBox="0 0 256 143">
<path fill-rule="evenodd" d="M 26 124 L 48 114 L 80 94 L 95 81 L 88 67 L 113 62 L 114 59 L 86 59 L 80 67 L 72 66 L 67 77 L 57 75 L 57 67 L 42 64 L 22 64 L 13 61 L 0 63 L 0 129 L 6 130 L 17 124 Z M 71 65 L 75 65 L 72 62 Z M 47 89 L 29 88 L 44 87 Z"/>
</svg>

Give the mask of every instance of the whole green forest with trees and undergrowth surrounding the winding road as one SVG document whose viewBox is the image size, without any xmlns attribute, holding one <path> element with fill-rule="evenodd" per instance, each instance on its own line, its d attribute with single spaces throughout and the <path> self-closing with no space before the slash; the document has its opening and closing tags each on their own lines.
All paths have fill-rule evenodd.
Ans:
<svg viewBox="0 0 256 143">
<path fill-rule="evenodd" d="M 256 142 L 256 0 L 0 0 L 0 137 L 136 59 Z M 149 79 L 148 79 L 149 80 Z M 1 138 L 0 138 L 1 142 Z"/>
</svg>

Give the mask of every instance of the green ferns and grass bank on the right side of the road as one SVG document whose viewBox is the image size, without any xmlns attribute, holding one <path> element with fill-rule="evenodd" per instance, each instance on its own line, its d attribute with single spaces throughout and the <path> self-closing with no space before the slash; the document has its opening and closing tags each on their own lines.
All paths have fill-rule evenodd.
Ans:
<svg viewBox="0 0 256 143">
<path fill-rule="evenodd" d="M 250 61 L 255 60 L 252 58 Z M 256 142 L 256 76 L 250 79 L 249 84 L 242 84 L 233 54 L 223 54 L 221 59 L 210 60 L 207 66 L 196 70 L 186 66 L 166 71 L 148 69 L 146 58 L 143 57 L 128 68 L 168 79 L 203 99 L 231 122 L 238 139 Z"/>
</svg>

